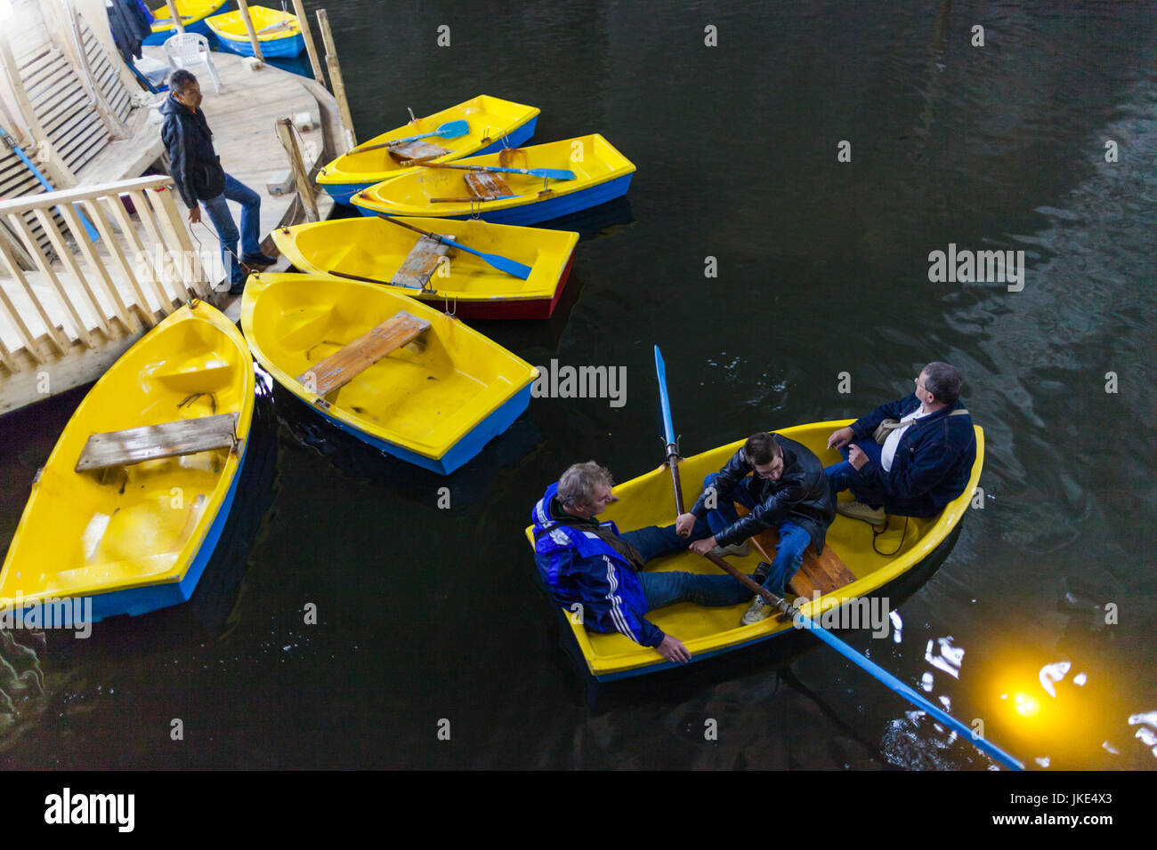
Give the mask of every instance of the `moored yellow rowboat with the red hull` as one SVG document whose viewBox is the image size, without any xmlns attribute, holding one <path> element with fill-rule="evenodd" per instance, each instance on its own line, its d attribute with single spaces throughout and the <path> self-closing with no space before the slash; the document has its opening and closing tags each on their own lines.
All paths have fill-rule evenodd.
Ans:
<svg viewBox="0 0 1157 850">
<path fill-rule="evenodd" d="M 522 263 L 530 266 L 530 276 L 522 280 L 507 274 L 466 251 L 441 247 L 379 216 L 279 228 L 273 231 L 273 241 L 302 272 L 351 275 L 388 284 L 395 281 L 393 288 L 403 295 L 437 310 L 451 310 L 464 319 L 550 318 L 570 274 L 578 242 L 578 234 L 567 230 L 484 221 L 398 221 L 422 229 L 432 227 L 432 232 L 452 237 L 466 247 Z M 447 257 L 445 263 L 441 256 Z"/>
</svg>

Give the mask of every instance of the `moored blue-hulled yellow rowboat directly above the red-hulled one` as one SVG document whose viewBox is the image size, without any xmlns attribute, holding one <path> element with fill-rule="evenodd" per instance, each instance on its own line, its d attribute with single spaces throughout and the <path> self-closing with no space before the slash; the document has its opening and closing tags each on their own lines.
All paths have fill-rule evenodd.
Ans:
<svg viewBox="0 0 1157 850">
<path fill-rule="evenodd" d="M 354 195 L 364 215 L 481 216 L 496 224 L 536 224 L 604 204 L 627 193 L 635 165 L 598 133 L 577 139 L 472 156 L 454 165 L 557 169 L 573 180 L 507 172 L 419 168 Z M 449 200 L 448 200 L 449 199 Z"/>
</svg>

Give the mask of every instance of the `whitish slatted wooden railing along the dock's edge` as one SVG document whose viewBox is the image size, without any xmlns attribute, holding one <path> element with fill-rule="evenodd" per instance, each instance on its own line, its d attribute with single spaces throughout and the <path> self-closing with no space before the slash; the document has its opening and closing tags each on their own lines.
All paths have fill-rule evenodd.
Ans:
<svg viewBox="0 0 1157 850">
<path fill-rule="evenodd" d="M 10 374 L 21 369 L 21 348 L 43 364 L 78 345 L 137 334 L 189 298 L 209 295 L 218 244 L 194 249 L 172 185 L 167 176 L 139 177 L 0 201 L 8 231 L 0 232 L 0 362 Z M 35 238 L 34 223 L 51 251 Z M 21 268 L 17 253 L 35 271 Z"/>
</svg>

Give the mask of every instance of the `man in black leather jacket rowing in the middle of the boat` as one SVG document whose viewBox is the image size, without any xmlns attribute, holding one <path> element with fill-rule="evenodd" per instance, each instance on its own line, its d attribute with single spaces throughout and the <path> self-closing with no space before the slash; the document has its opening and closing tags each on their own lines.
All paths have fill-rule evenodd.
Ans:
<svg viewBox="0 0 1157 850">
<path fill-rule="evenodd" d="M 747 508 L 747 516 L 740 519 L 734 502 Z M 706 555 L 713 547 L 717 555 L 746 555 L 747 538 L 776 529 L 780 542 L 764 586 L 783 596 L 808 545 L 817 555 L 824 550 L 835 507 L 819 458 L 794 439 L 761 431 L 749 437 L 720 472 L 703 479 L 703 493 L 691 511 L 678 518 L 676 531 L 690 533 L 703 517 L 714 535 L 690 546 L 697 555 Z M 742 624 L 771 614 L 771 606 L 757 596 Z"/>
</svg>

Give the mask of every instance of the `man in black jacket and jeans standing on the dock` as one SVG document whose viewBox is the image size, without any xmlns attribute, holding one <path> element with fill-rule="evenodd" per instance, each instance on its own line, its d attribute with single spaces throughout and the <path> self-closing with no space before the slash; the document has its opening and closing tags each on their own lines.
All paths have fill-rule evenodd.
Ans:
<svg viewBox="0 0 1157 850">
<path fill-rule="evenodd" d="M 169 97 L 161 106 L 164 116 L 161 139 L 169 150 L 177 191 L 189 207 L 190 224 L 200 222 L 198 202 L 204 204 L 221 242 L 221 259 L 231 284 L 229 294 L 241 295 L 248 269 L 235 261 L 237 239 L 241 239 L 241 264 L 244 266 L 265 268 L 275 260 L 261 253 L 258 234 L 261 198 L 221 168 L 221 157 L 213 148 L 213 133 L 200 109 L 201 99 L 201 87 L 196 76 L 184 69 L 172 72 Z M 227 201 L 241 204 L 239 234 Z"/>
</svg>

